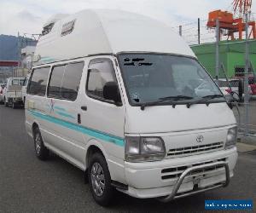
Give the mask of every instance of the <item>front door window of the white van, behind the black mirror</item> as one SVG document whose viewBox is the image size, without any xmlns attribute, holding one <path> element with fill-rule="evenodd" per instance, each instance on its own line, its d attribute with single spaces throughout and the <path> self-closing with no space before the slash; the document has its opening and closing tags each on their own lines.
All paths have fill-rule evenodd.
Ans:
<svg viewBox="0 0 256 213">
<path fill-rule="evenodd" d="M 116 82 L 112 61 L 108 59 L 91 60 L 88 68 L 86 94 L 104 101 L 103 87 L 108 82 Z"/>
</svg>

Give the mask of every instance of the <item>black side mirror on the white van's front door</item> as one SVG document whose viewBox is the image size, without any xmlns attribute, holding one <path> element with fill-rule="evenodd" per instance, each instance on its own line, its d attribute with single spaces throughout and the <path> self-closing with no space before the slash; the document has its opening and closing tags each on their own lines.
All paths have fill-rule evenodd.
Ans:
<svg viewBox="0 0 256 213">
<path fill-rule="evenodd" d="M 119 86 L 116 82 L 107 82 L 103 87 L 103 98 L 114 101 L 117 106 L 120 106 L 121 99 L 119 95 Z"/>
</svg>

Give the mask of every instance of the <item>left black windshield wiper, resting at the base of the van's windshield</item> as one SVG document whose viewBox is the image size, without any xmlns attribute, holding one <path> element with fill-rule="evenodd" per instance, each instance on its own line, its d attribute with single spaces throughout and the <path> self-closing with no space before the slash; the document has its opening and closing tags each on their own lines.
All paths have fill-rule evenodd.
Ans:
<svg viewBox="0 0 256 213">
<path fill-rule="evenodd" d="M 193 97 L 184 96 L 184 95 L 167 96 L 167 97 L 160 98 L 158 101 L 143 103 L 141 106 L 141 109 L 144 110 L 145 107 L 152 107 L 152 106 L 156 106 L 158 104 L 166 103 L 166 102 L 171 104 L 172 107 L 175 107 L 177 105 L 177 101 L 191 100 L 191 99 L 193 99 Z"/>
</svg>

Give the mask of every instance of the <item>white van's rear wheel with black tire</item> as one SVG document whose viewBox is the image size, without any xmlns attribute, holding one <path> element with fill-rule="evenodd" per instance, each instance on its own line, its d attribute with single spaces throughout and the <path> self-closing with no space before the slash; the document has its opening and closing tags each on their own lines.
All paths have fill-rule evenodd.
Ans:
<svg viewBox="0 0 256 213">
<path fill-rule="evenodd" d="M 46 160 L 49 158 L 49 149 L 44 147 L 44 141 L 41 135 L 41 132 L 39 130 L 39 128 L 37 127 L 34 132 L 34 146 L 35 146 L 35 152 L 36 152 L 36 156 L 40 159 L 40 160 Z"/>
</svg>

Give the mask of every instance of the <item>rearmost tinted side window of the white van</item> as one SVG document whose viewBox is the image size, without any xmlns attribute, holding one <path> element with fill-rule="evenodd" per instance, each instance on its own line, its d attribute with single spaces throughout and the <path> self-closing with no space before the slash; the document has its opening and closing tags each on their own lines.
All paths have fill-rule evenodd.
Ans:
<svg viewBox="0 0 256 213">
<path fill-rule="evenodd" d="M 27 93 L 44 96 L 49 75 L 49 66 L 36 68 L 32 71 L 32 77 L 28 85 Z"/>
</svg>

